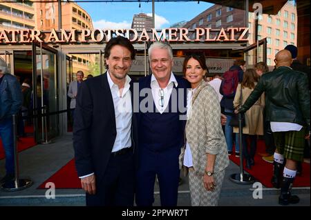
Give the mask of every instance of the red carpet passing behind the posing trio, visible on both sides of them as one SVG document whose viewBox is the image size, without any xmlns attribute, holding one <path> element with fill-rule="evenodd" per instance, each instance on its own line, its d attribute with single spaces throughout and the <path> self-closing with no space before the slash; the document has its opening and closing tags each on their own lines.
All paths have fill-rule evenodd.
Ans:
<svg viewBox="0 0 311 220">
<path fill-rule="evenodd" d="M 263 140 L 258 140 L 257 152 L 265 152 L 265 143 Z M 229 156 L 229 158 L 234 161 L 234 163 L 240 164 L 240 158 L 235 157 L 234 154 Z M 272 187 L 270 183 L 272 177 L 272 163 L 267 163 L 263 161 L 260 156 L 256 155 L 255 166 L 252 167 L 252 170 L 246 169 L 245 171 L 252 174 L 258 181 L 263 183 L 265 187 Z M 81 183 L 75 170 L 74 159 L 70 160 L 38 188 L 44 189 L 47 182 L 55 183 L 55 188 L 58 189 L 81 188 Z M 310 186 L 310 164 L 303 163 L 303 174 L 301 177 L 296 178 L 294 186 Z"/>
</svg>

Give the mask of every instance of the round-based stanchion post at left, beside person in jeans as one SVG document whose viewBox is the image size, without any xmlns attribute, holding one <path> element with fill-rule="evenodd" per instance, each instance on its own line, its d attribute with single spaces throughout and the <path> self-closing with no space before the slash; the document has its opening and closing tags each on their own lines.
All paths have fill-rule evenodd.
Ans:
<svg viewBox="0 0 311 220">
<path fill-rule="evenodd" d="M 14 165 L 15 165 L 15 180 L 3 183 L 1 188 L 5 191 L 13 192 L 23 190 L 32 186 L 33 182 L 29 179 L 19 179 L 19 154 L 17 149 L 17 114 L 12 114 L 13 126 L 13 148 L 14 148 Z"/>
</svg>

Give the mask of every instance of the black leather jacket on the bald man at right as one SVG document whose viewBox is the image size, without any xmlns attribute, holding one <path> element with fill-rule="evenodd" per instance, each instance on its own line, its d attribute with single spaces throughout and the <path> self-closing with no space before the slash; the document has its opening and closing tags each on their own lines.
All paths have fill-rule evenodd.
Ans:
<svg viewBox="0 0 311 220">
<path fill-rule="evenodd" d="M 251 108 L 263 92 L 267 110 L 266 121 L 310 125 L 310 92 L 306 74 L 286 66 L 263 74 L 241 107 L 241 112 Z"/>
</svg>

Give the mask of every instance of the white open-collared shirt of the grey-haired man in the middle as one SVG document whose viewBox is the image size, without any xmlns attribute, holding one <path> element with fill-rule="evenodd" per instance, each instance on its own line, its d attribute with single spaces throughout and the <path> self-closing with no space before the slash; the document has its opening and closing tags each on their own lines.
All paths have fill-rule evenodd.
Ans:
<svg viewBox="0 0 311 220">
<path fill-rule="evenodd" d="M 171 91 L 173 90 L 173 84 L 175 84 L 175 86 L 178 86 L 178 83 L 176 81 L 176 78 L 173 74 L 173 72 L 171 72 L 171 78 L 169 79 L 169 83 L 167 84 L 167 87 L 162 88 L 163 90 L 163 99 L 164 99 L 164 105 L 163 107 L 160 106 L 159 100 L 160 100 L 160 95 L 159 95 L 159 91 L 161 90 L 158 81 L 156 80 L 156 77 L 152 74 L 151 75 L 151 90 L 152 90 L 152 97 L 153 97 L 153 101 L 156 105 L 156 108 L 158 110 L 158 112 L 160 112 L 160 114 L 162 114 L 164 112 L 164 110 L 166 110 L 167 105 L 169 104 L 169 98 L 171 97 Z"/>
</svg>

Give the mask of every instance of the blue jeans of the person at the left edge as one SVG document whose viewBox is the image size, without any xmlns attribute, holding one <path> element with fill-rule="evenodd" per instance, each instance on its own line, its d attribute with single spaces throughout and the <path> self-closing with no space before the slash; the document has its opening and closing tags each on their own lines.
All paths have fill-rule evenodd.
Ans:
<svg viewBox="0 0 311 220">
<path fill-rule="evenodd" d="M 1 119 L 0 137 L 4 152 L 6 152 L 6 173 L 14 174 L 14 146 L 13 146 L 13 124 L 12 117 Z"/>
</svg>

